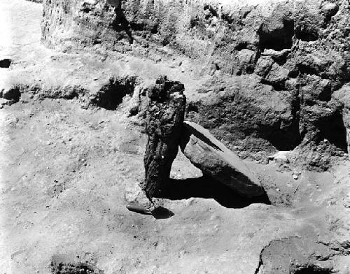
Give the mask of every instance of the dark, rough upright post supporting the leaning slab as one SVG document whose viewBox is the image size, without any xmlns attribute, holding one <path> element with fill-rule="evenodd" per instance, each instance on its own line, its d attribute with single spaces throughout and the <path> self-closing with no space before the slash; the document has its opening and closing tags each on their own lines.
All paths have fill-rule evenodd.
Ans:
<svg viewBox="0 0 350 274">
<path fill-rule="evenodd" d="M 146 110 L 146 176 L 141 187 L 148 199 L 166 191 L 183 128 L 186 107 L 183 91 L 181 82 L 169 81 L 167 76 L 161 76 L 147 88 L 150 101 Z"/>
</svg>

